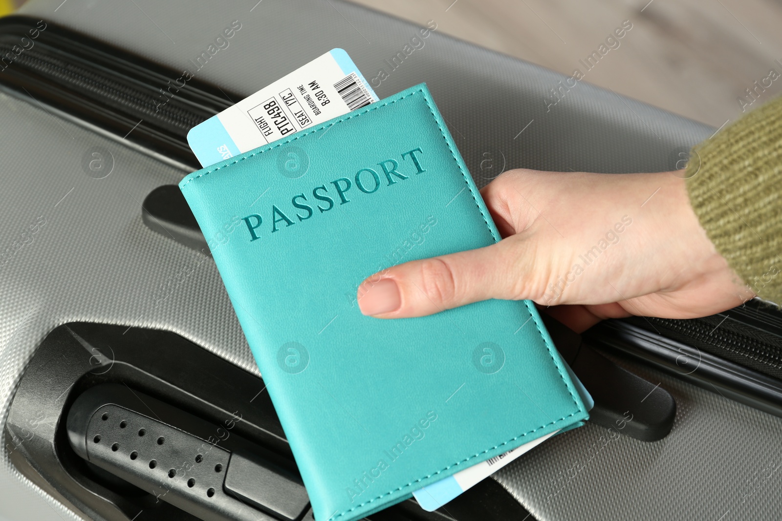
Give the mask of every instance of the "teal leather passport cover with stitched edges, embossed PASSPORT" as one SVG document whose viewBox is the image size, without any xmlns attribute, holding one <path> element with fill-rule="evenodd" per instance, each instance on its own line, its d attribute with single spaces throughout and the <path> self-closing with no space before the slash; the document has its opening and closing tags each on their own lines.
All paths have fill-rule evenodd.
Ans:
<svg viewBox="0 0 782 521">
<path fill-rule="evenodd" d="M 179 186 L 206 237 L 239 223 L 213 258 L 318 521 L 587 418 L 531 302 L 358 309 L 387 266 L 500 240 L 425 84 Z"/>
</svg>

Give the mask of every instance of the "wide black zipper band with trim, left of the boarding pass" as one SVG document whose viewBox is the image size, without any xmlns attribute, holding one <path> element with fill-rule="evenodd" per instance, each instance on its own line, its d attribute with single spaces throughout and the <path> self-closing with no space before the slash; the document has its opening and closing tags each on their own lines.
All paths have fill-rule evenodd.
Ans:
<svg viewBox="0 0 782 521">
<path fill-rule="evenodd" d="M 0 90 L 197 170 L 187 133 L 241 97 L 52 23 L 0 19 Z M 45 27 L 40 29 L 40 27 Z M 37 37 L 30 30 L 38 30 Z"/>
</svg>

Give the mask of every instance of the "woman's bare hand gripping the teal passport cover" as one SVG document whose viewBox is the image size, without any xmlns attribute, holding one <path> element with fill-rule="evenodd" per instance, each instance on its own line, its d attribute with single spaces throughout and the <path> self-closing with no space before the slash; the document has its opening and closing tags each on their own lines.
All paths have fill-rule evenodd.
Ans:
<svg viewBox="0 0 782 521">
<path fill-rule="evenodd" d="M 481 191 L 502 241 L 368 277 L 361 312 L 395 319 L 529 298 L 580 331 L 610 317 L 692 318 L 741 305 L 754 294 L 674 174 L 504 173 Z"/>
</svg>

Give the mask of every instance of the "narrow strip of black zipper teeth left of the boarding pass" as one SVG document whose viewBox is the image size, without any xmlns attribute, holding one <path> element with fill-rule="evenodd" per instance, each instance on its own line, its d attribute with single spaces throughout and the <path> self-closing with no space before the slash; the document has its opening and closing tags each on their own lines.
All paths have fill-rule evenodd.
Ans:
<svg viewBox="0 0 782 521">
<path fill-rule="evenodd" d="M 2 54 L 10 50 L 8 45 L 0 44 Z M 79 87 L 81 91 L 119 102 L 135 112 L 148 116 L 151 120 L 168 123 L 184 130 L 194 127 L 203 120 L 192 112 L 167 103 L 159 105 L 156 110 L 154 99 L 145 92 L 128 87 L 126 84 L 121 84 L 83 67 L 63 62 L 51 56 L 41 55 L 40 52 L 24 52 L 14 61 L 43 73 L 47 77 L 64 80 L 68 84 Z"/>
</svg>

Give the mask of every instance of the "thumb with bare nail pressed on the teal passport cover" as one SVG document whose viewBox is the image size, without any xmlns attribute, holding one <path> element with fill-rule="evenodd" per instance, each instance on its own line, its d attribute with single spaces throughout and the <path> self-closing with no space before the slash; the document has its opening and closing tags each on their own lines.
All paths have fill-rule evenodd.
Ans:
<svg viewBox="0 0 782 521">
<path fill-rule="evenodd" d="M 516 241 L 518 244 L 518 241 Z M 364 315 L 381 319 L 425 316 L 488 298 L 525 295 L 523 257 L 508 239 L 485 248 L 405 262 L 358 287 Z"/>
</svg>

